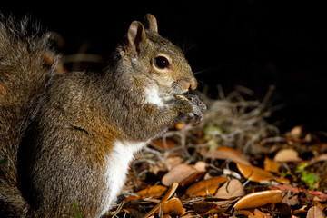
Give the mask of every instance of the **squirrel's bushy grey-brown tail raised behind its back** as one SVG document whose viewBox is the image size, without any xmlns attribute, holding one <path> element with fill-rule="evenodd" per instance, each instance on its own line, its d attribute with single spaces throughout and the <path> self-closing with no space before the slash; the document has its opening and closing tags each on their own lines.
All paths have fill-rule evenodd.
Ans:
<svg viewBox="0 0 327 218">
<path fill-rule="evenodd" d="M 18 189 L 17 153 L 58 60 L 46 35 L 27 36 L 27 23 L 0 15 L 0 217 L 24 217 L 28 210 Z"/>
</svg>

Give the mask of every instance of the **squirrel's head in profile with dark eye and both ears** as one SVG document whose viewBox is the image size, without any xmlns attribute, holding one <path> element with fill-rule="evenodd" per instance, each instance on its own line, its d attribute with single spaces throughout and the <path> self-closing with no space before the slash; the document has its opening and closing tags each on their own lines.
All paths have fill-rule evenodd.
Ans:
<svg viewBox="0 0 327 218">
<path fill-rule="evenodd" d="M 161 96 L 183 94 L 197 87 L 182 50 L 158 34 L 154 15 L 146 14 L 143 24 L 132 22 L 122 48 L 124 62 L 155 84 Z"/>
</svg>

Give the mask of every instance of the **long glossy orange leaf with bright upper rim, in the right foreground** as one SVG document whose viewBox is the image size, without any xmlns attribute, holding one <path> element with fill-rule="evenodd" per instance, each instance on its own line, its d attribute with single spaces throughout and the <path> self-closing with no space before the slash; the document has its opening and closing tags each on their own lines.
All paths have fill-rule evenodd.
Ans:
<svg viewBox="0 0 327 218">
<path fill-rule="evenodd" d="M 237 203 L 234 204 L 235 210 L 260 207 L 268 203 L 282 202 L 282 191 L 267 190 L 257 193 L 249 193 L 243 196 Z"/>
</svg>

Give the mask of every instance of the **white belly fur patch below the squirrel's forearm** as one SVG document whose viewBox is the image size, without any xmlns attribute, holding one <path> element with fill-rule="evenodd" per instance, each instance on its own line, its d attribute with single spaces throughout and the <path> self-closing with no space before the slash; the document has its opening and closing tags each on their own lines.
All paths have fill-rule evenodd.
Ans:
<svg viewBox="0 0 327 218">
<path fill-rule="evenodd" d="M 105 157 L 104 183 L 106 188 L 103 193 L 103 201 L 99 217 L 107 212 L 121 192 L 128 171 L 129 163 L 134 153 L 141 150 L 147 142 L 116 142 L 113 151 Z"/>
</svg>

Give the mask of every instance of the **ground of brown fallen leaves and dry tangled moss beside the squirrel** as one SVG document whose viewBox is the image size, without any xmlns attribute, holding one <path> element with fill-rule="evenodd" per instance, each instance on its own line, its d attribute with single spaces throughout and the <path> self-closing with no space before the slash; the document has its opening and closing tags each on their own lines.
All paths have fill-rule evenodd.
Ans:
<svg viewBox="0 0 327 218">
<path fill-rule="evenodd" d="M 263 101 L 242 86 L 198 125 L 174 124 L 137 154 L 119 204 L 107 217 L 326 217 L 327 144 L 294 126 L 281 134 Z"/>
</svg>

